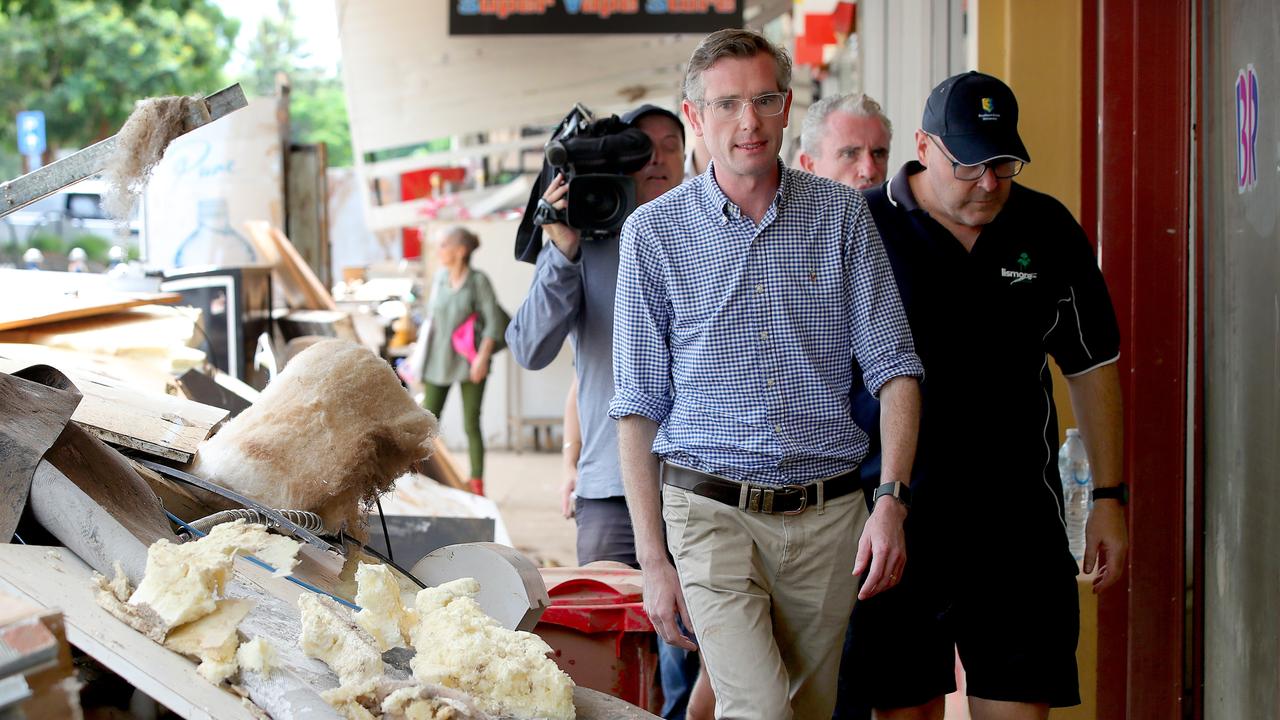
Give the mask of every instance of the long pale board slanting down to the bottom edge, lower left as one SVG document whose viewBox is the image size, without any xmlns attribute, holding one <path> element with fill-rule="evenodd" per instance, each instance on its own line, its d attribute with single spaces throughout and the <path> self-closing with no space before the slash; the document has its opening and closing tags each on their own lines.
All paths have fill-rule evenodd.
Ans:
<svg viewBox="0 0 1280 720">
<path fill-rule="evenodd" d="M 67 639 L 129 684 L 188 720 L 255 719 L 238 697 L 201 678 L 193 662 L 99 607 L 90 577 L 88 565 L 68 550 L 0 546 L 0 587 L 60 609 Z"/>
</svg>

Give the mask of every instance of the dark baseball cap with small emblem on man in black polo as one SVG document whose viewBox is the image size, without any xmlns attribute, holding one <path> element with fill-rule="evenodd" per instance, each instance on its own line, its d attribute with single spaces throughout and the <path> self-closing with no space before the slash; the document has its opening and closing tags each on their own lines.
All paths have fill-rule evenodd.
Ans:
<svg viewBox="0 0 1280 720">
<path fill-rule="evenodd" d="M 1000 78 L 969 70 L 951 76 L 929 92 L 920 128 L 942 138 L 964 165 L 996 158 L 1030 163 L 1018 136 L 1018 99 Z"/>
</svg>

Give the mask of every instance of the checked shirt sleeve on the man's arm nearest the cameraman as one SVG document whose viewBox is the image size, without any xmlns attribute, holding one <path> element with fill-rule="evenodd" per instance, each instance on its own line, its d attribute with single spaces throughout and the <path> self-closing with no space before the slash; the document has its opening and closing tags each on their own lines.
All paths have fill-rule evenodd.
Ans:
<svg viewBox="0 0 1280 720">
<path fill-rule="evenodd" d="M 622 227 L 609 416 L 643 415 L 662 424 L 673 402 L 666 258 L 652 229 L 635 220 L 632 215 Z"/>
</svg>

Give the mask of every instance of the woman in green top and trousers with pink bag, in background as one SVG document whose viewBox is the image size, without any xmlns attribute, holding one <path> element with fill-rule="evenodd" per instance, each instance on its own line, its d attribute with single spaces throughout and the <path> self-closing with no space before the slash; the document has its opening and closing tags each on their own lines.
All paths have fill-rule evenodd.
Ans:
<svg viewBox="0 0 1280 720">
<path fill-rule="evenodd" d="M 462 387 L 462 418 L 471 456 L 471 489 L 484 495 L 484 434 L 480 404 L 489 377 L 489 360 L 507 331 L 507 314 L 498 305 L 489 277 L 471 268 L 480 238 L 463 228 L 443 231 L 436 241 L 439 272 L 431 283 L 422 383 L 422 406 L 436 418 L 449 387 Z M 470 327 L 467 327 L 470 324 Z"/>
</svg>

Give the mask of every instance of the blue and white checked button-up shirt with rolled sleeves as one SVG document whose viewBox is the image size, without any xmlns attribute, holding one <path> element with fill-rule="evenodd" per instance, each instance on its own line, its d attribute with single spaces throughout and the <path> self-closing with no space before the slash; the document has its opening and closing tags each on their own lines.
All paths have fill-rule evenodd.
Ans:
<svg viewBox="0 0 1280 720">
<path fill-rule="evenodd" d="M 863 196 L 791 170 L 756 225 L 714 167 L 622 228 L 612 418 L 658 423 L 653 451 L 765 486 L 854 469 L 867 388 L 922 377 L 892 270 Z"/>
</svg>

